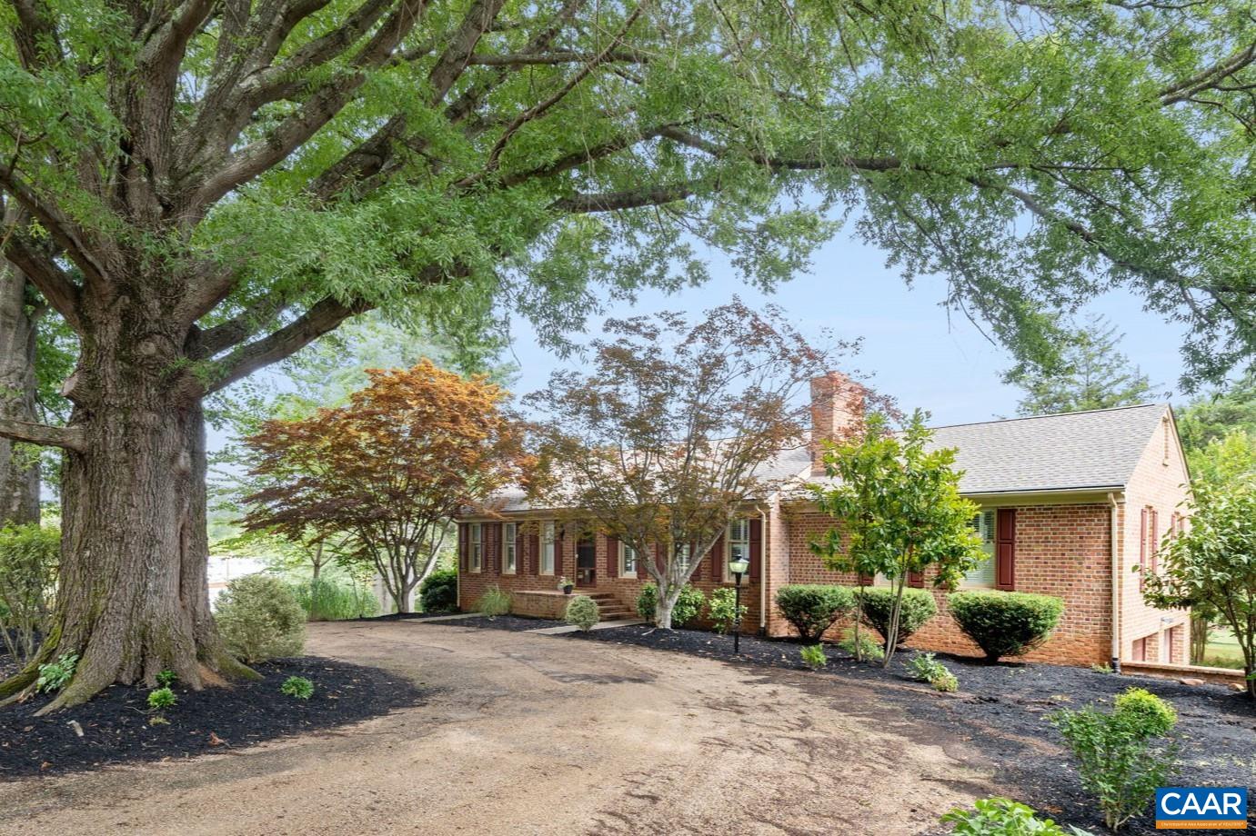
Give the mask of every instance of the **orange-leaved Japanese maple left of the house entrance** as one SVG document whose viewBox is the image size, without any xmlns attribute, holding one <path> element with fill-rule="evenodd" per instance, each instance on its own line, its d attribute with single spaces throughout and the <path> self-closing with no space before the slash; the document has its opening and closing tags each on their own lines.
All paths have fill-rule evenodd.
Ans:
<svg viewBox="0 0 1256 836">
<path fill-rule="evenodd" d="M 525 462 L 505 392 L 423 360 L 369 372 L 338 409 L 269 421 L 247 439 L 247 530 L 295 541 L 349 537 L 398 613 L 435 567 L 450 520 L 517 478 Z"/>
</svg>

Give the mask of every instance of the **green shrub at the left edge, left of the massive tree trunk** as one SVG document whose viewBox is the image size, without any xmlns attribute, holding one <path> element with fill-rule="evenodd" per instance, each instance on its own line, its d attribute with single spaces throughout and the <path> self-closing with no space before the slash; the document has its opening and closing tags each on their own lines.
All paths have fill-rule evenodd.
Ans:
<svg viewBox="0 0 1256 836">
<path fill-rule="evenodd" d="M 39 525 L 0 528 L 0 641 L 18 667 L 48 634 L 60 540 Z"/>
</svg>

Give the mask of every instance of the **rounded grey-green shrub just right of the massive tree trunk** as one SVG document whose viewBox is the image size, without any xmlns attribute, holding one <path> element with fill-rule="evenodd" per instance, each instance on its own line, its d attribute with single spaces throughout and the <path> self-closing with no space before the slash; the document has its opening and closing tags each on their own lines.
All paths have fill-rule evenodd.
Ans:
<svg viewBox="0 0 1256 836">
<path fill-rule="evenodd" d="M 246 663 L 295 656 L 305 646 L 305 610 L 291 587 L 270 575 L 227 584 L 215 620 L 227 648 Z"/>
</svg>

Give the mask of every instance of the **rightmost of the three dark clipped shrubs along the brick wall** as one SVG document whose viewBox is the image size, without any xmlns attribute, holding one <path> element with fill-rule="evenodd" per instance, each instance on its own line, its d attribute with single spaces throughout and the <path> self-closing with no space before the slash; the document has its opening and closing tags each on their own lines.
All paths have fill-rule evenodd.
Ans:
<svg viewBox="0 0 1256 836">
<path fill-rule="evenodd" d="M 1060 599 L 1025 592 L 970 590 L 948 595 L 947 604 L 956 624 L 990 662 L 1041 646 L 1064 613 Z"/>
</svg>

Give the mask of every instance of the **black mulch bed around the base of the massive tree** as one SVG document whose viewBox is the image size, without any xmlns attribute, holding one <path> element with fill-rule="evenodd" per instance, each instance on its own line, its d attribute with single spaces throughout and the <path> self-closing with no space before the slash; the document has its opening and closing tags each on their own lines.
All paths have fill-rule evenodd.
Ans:
<svg viewBox="0 0 1256 836">
<path fill-rule="evenodd" d="M 48 695 L 3 708 L 0 781 L 237 749 L 422 702 L 418 688 L 387 670 L 319 656 L 280 659 L 254 670 L 263 679 L 234 688 L 193 692 L 176 684 L 178 704 L 162 712 L 168 724 L 149 723 L 147 689 L 124 685 L 48 717 L 34 717 Z M 303 700 L 280 694 L 288 677 L 311 680 L 314 695 Z"/>
</svg>

